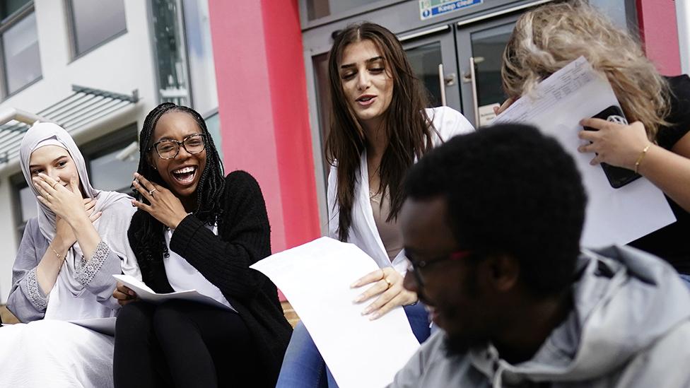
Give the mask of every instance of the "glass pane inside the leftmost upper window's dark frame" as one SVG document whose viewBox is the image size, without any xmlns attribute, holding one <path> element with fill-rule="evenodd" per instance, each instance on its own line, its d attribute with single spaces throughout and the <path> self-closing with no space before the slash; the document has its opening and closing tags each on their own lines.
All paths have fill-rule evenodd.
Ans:
<svg viewBox="0 0 690 388">
<path fill-rule="evenodd" d="M 41 76 L 36 14 L 19 20 L 2 35 L 7 91 L 14 93 Z"/>
</svg>

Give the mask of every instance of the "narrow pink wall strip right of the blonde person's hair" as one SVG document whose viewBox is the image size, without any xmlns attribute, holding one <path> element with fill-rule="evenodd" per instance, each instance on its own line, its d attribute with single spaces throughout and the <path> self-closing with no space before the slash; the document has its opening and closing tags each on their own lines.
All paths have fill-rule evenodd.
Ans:
<svg viewBox="0 0 690 388">
<path fill-rule="evenodd" d="M 680 74 L 674 0 L 637 0 L 637 11 L 647 57 L 654 61 L 661 74 Z"/>
</svg>

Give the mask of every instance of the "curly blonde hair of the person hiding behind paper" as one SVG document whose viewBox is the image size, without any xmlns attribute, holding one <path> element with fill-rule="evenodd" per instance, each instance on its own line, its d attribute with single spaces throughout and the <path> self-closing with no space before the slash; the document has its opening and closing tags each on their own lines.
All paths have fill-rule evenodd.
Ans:
<svg viewBox="0 0 690 388">
<path fill-rule="evenodd" d="M 668 125 L 667 81 L 636 39 L 583 1 L 547 4 L 520 16 L 503 52 L 503 89 L 519 98 L 580 56 L 608 78 L 628 120 L 642 122 L 654 141 Z"/>
</svg>

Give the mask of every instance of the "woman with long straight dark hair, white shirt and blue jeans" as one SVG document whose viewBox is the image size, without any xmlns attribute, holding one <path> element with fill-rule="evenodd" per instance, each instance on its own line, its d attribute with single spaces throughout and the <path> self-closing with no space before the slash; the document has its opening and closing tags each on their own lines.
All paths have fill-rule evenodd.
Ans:
<svg viewBox="0 0 690 388">
<path fill-rule="evenodd" d="M 402 181 L 417 158 L 445 139 L 472 131 L 472 125 L 449 107 L 426 109 L 426 91 L 402 45 L 380 25 L 360 23 L 339 33 L 329 53 L 328 75 L 329 236 L 357 245 L 380 267 L 353 283 L 368 286 L 356 300 L 366 303 L 363 314 L 376 319 L 405 306 L 421 342 L 429 334 L 426 310 L 416 305 L 416 294 L 402 287 L 407 269 L 397 228 Z M 326 380 L 336 385 L 298 324 L 278 386 L 317 386 Z"/>
</svg>

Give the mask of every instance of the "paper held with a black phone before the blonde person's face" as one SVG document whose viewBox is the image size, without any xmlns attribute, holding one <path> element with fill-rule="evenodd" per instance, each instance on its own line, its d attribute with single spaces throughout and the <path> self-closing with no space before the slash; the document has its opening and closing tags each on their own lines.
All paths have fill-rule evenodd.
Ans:
<svg viewBox="0 0 690 388">
<path fill-rule="evenodd" d="M 626 244 L 676 221 L 664 194 L 644 177 L 619 189 L 610 186 L 593 153 L 579 153 L 583 143 L 580 119 L 618 105 L 609 82 L 584 57 L 539 83 L 493 124 L 523 122 L 554 136 L 575 158 L 587 191 L 587 212 L 581 243 L 585 247 Z"/>
</svg>

